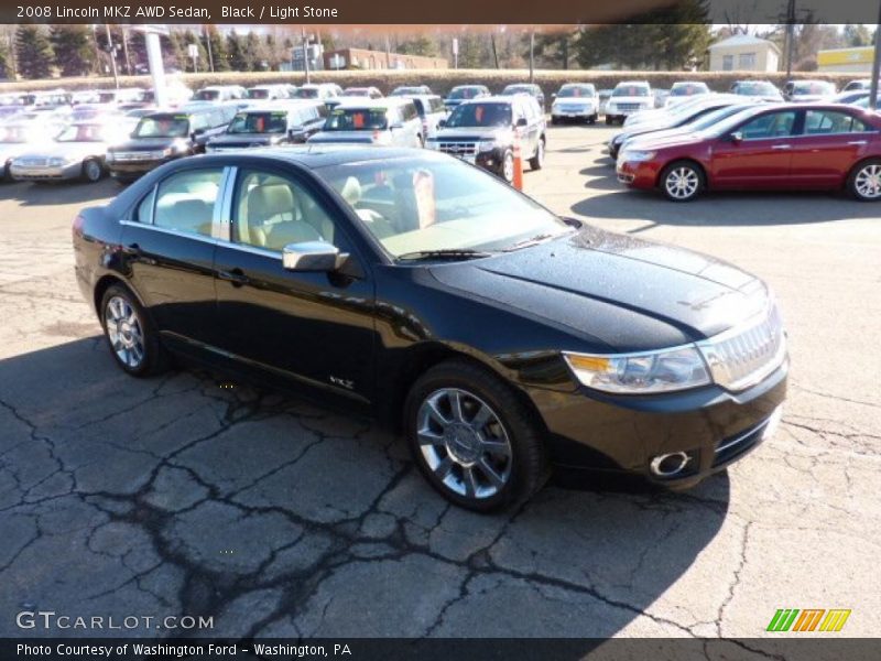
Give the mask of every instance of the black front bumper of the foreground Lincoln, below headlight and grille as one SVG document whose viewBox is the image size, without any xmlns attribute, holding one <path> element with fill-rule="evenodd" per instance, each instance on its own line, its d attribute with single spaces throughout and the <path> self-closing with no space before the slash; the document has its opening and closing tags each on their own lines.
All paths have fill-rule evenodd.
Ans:
<svg viewBox="0 0 881 661">
<path fill-rule="evenodd" d="M 562 468 L 639 475 L 681 489 L 742 458 L 770 437 L 786 397 L 788 366 L 752 388 L 730 393 L 717 386 L 663 395 L 605 395 L 579 387 L 568 393 L 532 389 L 550 434 L 552 462 Z M 674 475 L 653 459 L 687 456 Z"/>
</svg>

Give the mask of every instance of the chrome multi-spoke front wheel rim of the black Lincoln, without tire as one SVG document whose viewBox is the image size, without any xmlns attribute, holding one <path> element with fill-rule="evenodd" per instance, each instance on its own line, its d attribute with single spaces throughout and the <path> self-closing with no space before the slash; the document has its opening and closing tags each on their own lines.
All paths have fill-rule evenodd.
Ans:
<svg viewBox="0 0 881 661">
<path fill-rule="evenodd" d="M 490 405 L 467 390 L 428 394 L 416 415 L 416 435 L 427 467 L 458 496 L 491 498 L 511 478 L 508 431 Z"/>
</svg>

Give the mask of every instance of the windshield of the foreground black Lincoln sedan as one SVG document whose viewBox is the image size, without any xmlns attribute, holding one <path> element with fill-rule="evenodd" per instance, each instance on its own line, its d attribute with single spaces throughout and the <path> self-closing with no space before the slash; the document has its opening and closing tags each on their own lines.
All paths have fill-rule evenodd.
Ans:
<svg viewBox="0 0 881 661">
<path fill-rule="evenodd" d="M 406 156 L 320 167 L 393 257 L 502 250 L 572 228 L 498 177 L 449 156 Z"/>
</svg>

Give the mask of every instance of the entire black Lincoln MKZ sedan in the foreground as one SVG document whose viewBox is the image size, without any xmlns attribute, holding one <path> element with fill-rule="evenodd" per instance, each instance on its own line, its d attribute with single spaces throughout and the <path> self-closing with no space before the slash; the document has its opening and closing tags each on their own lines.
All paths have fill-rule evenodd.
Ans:
<svg viewBox="0 0 881 661">
<path fill-rule="evenodd" d="M 183 159 L 83 210 L 74 249 L 130 375 L 185 355 L 347 402 L 476 510 L 552 466 L 692 486 L 763 441 L 785 395 L 759 279 L 562 219 L 436 152 Z"/>
</svg>

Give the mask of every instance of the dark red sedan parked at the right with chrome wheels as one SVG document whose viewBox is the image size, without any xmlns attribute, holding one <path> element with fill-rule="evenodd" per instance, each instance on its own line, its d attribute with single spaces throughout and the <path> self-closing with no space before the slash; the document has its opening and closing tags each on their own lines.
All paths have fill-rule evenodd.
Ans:
<svg viewBox="0 0 881 661">
<path fill-rule="evenodd" d="M 618 156 L 618 180 L 674 202 L 703 191 L 837 189 L 881 199 L 881 116 L 851 106 L 757 106 L 713 129 L 637 139 Z"/>
</svg>

